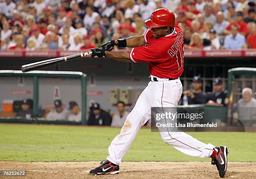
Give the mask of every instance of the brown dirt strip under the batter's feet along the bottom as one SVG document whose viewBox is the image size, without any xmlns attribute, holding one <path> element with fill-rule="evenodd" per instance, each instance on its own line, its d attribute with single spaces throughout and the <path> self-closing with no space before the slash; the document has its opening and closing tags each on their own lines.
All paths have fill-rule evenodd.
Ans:
<svg viewBox="0 0 256 179">
<path fill-rule="evenodd" d="M 0 162 L 0 169 L 26 170 L 22 179 L 218 179 L 210 162 L 122 162 L 120 174 L 89 175 L 100 162 Z M 1 177 L 0 177 L 1 178 Z M 13 177 L 2 177 L 13 179 Z M 255 179 L 256 163 L 229 162 L 225 178 Z"/>
</svg>

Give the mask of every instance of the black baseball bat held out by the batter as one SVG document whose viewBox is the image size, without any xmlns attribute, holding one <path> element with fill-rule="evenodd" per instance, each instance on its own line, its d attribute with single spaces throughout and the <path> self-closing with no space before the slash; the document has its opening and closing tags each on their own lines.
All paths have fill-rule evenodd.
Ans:
<svg viewBox="0 0 256 179">
<path fill-rule="evenodd" d="M 28 71 L 31 71 L 31 70 L 36 70 L 38 68 L 48 67 L 48 66 L 51 66 L 51 65 L 54 65 L 54 64 L 57 64 L 57 63 L 61 63 L 61 62 L 67 62 L 68 60 L 72 60 L 72 59 L 75 59 L 75 58 L 78 58 L 78 57 L 84 57 L 84 56 L 91 55 L 91 54 L 92 54 L 92 52 L 90 51 L 90 52 L 84 52 L 84 53 L 81 53 L 81 54 L 70 55 L 70 56 L 67 56 L 67 57 L 59 57 L 59 58 L 44 60 L 44 61 L 41 61 L 41 62 L 30 63 L 30 64 L 27 64 L 27 65 L 22 65 L 21 66 L 21 71 L 22 72 L 28 72 Z"/>
</svg>

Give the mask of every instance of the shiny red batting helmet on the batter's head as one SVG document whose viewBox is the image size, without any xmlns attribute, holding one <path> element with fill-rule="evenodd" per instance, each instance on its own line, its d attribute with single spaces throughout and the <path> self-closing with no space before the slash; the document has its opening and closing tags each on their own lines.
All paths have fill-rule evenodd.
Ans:
<svg viewBox="0 0 256 179">
<path fill-rule="evenodd" d="M 156 9 L 151 15 L 151 19 L 145 20 L 145 24 L 148 27 L 172 27 L 175 25 L 175 15 L 172 11 L 161 8 Z"/>
</svg>

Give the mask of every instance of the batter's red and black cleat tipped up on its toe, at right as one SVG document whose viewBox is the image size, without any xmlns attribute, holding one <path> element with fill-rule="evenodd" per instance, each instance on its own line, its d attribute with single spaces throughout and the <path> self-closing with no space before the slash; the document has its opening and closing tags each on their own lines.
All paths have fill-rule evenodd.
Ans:
<svg viewBox="0 0 256 179">
<path fill-rule="evenodd" d="M 212 165 L 216 165 L 221 178 L 224 177 L 228 165 L 228 147 L 215 147 L 212 155 Z"/>
</svg>

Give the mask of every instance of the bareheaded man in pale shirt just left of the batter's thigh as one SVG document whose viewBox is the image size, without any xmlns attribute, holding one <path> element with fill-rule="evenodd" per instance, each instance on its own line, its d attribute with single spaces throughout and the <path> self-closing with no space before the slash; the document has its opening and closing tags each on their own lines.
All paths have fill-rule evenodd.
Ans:
<svg viewBox="0 0 256 179">
<path fill-rule="evenodd" d="M 111 126 L 112 127 L 122 127 L 126 117 L 128 116 L 128 112 L 125 111 L 125 103 L 122 101 L 119 101 L 117 103 L 117 109 L 118 109 L 118 114 L 114 114 Z"/>
</svg>

